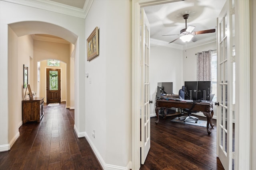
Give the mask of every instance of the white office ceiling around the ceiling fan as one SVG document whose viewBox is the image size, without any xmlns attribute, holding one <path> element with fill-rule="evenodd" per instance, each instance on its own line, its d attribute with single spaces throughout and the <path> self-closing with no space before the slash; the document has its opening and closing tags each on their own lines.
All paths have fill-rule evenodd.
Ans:
<svg viewBox="0 0 256 170">
<path fill-rule="evenodd" d="M 184 0 L 144 7 L 150 23 L 150 38 L 170 42 L 180 36 L 162 36 L 180 34 L 180 30 L 186 28 L 184 14 L 189 14 L 187 26 L 195 26 L 193 31 L 201 31 L 216 28 L 216 18 L 224 6 L 226 0 Z M 195 35 L 198 41 L 216 38 L 215 33 Z M 184 45 L 180 39 L 173 43 Z M 188 42 L 193 43 L 193 42 Z"/>
</svg>

